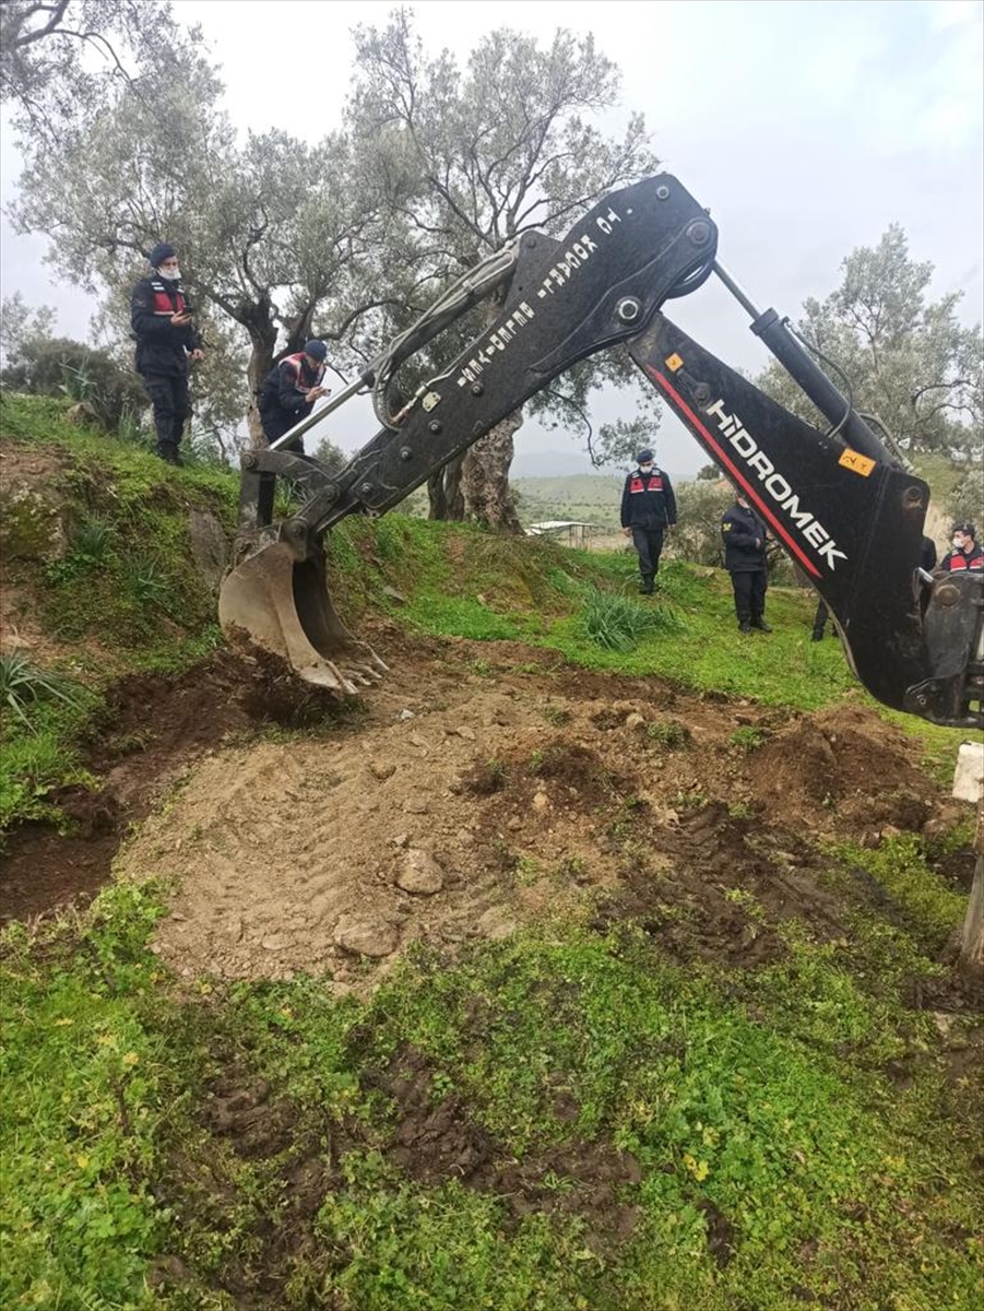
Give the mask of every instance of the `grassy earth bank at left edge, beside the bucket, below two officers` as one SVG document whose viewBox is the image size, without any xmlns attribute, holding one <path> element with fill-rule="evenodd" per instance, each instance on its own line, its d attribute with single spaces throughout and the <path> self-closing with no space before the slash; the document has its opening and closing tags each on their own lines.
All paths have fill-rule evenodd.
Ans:
<svg viewBox="0 0 984 1311">
<path fill-rule="evenodd" d="M 62 464 L 45 492 L 58 497 L 67 539 L 52 556 L 45 515 L 14 506 L 4 515 L 7 576 L 37 599 L 46 633 L 76 649 L 71 678 L 4 657 L 0 832 L 26 819 L 60 821 L 50 794 L 92 781 L 79 743 L 107 682 L 181 673 L 220 641 L 189 526 L 193 511 L 207 511 L 232 530 L 236 475 L 174 471 L 138 446 L 68 423 L 64 409 L 8 393 L 0 402 L 4 443 L 48 450 Z"/>
</svg>

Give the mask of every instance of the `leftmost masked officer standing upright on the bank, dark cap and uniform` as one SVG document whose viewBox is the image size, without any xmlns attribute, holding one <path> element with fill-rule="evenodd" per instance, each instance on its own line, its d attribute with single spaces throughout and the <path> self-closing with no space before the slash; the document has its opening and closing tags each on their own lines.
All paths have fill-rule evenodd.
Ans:
<svg viewBox="0 0 984 1311">
<path fill-rule="evenodd" d="M 178 447 L 191 413 L 187 392 L 190 361 L 202 359 L 202 338 L 194 311 L 181 286 L 173 245 L 159 243 L 148 256 L 151 275 L 130 298 L 130 326 L 136 342 L 136 371 L 153 405 L 157 455 L 181 464 Z"/>
</svg>

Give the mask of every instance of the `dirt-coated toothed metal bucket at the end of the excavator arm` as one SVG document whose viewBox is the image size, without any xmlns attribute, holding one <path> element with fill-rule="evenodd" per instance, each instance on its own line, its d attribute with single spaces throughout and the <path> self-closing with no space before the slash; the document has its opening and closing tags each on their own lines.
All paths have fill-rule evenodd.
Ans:
<svg viewBox="0 0 984 1311">
<path fill-rule="evenodd" d="M 233 646 L 278 656 L 305 682 L 334 692 L 358 694 L 387 670 L 335 614 L 321 551 L 297 560 L 284 541 L 261 545 L 227 574 L 219 623 Z"/>
</svg>

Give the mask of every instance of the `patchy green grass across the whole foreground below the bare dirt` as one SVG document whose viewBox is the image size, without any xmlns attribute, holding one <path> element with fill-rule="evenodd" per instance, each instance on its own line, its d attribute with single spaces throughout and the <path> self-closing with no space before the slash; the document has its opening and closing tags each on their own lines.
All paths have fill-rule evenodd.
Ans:
<svg viewBox="0 0 984 1311">
<path fill-rule="evenodd" d="M 287 1311 L 974 1304 L 974 1137 L 941 1118 L 933 1025 L 900 1006 L 905 971 L 932 970 L 901 931 L 867 944 L 870 974 L 794 926 L 785 962 L 718 978 L 630 927 L 558 922 L 457 965 L 419 952 L 366 1004 L 304 978 L 178 1000 L 145 948 L 159 912 L 127 885 L 7 933 L 5 1306 L 232 1308 L 233 1272 L 274 1278 Z M 912 1053 L 900 1091 L 882 1067 Z M 508 1173 L 476 1189 L 394 1163 L 377 1072 L 407 1061 L 536 1206 L 512 1207 Z M 219 1076 L 267 1080 L 288 1139 L 244 1155 L 211 1134 Z M 284 1180 L 329 1143 L 334 1180 L 299 1221 Z M 600 1209 L 578 1162 L 615 1168 Z M 165 1252 L 190 1273 L 151 1293 Z"/>
</svg>

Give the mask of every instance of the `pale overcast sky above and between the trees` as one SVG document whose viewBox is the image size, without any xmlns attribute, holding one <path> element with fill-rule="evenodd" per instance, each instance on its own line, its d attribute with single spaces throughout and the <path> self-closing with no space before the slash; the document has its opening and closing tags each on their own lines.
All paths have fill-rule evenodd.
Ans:
<svg viewBox="0 0 984 1311">
<path fill-rule="evenodd" d="M 200 22 L 221 66 L 227 109 L 238 128 L 282 127 L 320 136 L 339 126 L 352 46 L 350 28 L 381 26 L 389 0 L 176 0 Z M 901 223 L 911 253 L 936 265 L 932 291 L 964 292 L 962 317 L 981 319 L 984 296 L 984 3 L 980 0 L 823 0 L 823 3 L 531 3 L 425 0 L 417 30 L 436 54 L 464 62 L 501 26 L 548 41 L 558 26 L 594 31 L 622 71 L 621 127 L 642 111 L 663 166 L 721 229 L 719 258 L 761 307 L 797 315 L 806 296 L 839 282 L 841 260 Z M 518 88 L 518 92 L 521 88 Z M 3 135 L 3 198 L 16 193 L 18 159 Z M 3 294 L 54 304 L 58 329 L 86 334 L 90 307 L 54 286 L 42 237 L 3 223 Z M 760 345 L 714 279 L 671 307 L 671 317 L 727 363 L 757 368 Z M 599 420 L 633 406 L 609 396 Z M 351 448 L 372 435 L 362 417 L 339 421 Z M 520 452 L 554 450 L 580 467 L 579 443 L 527 425 Z M 706 463 L 664 421 L 660 463 L 691 475 Z"/>
</svg>

